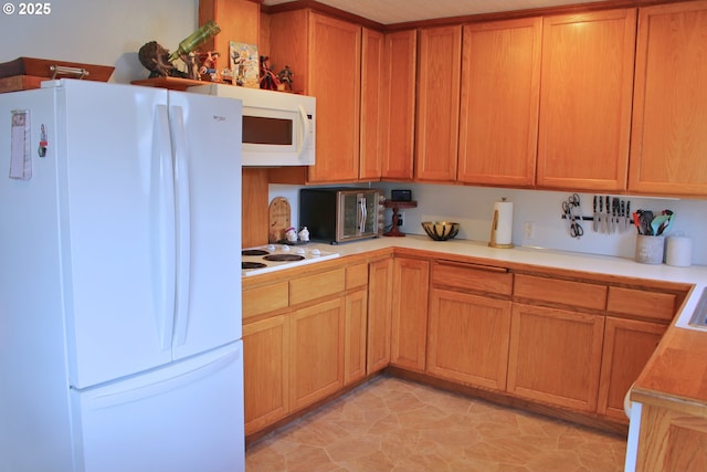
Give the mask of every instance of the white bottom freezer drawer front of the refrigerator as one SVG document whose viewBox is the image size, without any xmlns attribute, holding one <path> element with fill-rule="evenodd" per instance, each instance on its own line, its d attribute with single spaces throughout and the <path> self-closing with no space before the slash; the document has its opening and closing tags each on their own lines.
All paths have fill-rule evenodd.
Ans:
<svg viewBox="0 0 707 472">
<path fill-rule="evenodd" d="M 243 471 L 242 348 L 74 390 L 76 472 Z"/>
</svg>

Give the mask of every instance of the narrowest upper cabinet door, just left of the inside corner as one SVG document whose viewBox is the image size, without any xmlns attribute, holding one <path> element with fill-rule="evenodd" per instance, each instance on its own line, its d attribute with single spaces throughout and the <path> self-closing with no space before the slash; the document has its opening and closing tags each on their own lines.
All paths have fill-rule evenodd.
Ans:
<svg viewBox="0 0 707 472">
<path fill-rule="evenodd" d="M 361 43 L 361 155 L 359 178 L 380 180 L 382 169 L 383 33 L 363 28 Z"/>
</svg>

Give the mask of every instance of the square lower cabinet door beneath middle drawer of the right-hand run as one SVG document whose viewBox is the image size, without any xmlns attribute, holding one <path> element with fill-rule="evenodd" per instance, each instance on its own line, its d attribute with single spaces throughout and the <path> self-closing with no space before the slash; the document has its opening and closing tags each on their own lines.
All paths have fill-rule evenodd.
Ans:
<svg viewBox="0 0 707 472">
<path fill-rule="evenodd" d="M 604 317 L 514 303 L 508 391 L 595 411 Z"/>
</svg>

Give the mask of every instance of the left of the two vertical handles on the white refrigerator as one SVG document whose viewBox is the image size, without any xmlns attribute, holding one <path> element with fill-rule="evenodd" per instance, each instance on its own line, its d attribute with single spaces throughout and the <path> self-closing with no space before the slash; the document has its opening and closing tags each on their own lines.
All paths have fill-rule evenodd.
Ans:
<svg viewBox="0 0 707 472">
<path fill-rule="evenodd" d="M 175 181 L 172 169 L 172 149 L 169 133 L 169 117 L 166 105 L 157 105 L 155 114 L 155 150 L 152 158 L 152 201 L 157 208 L 152 211 L 152 231 L 157 238 L 152 239 L 152 254 L 158 259 L 157 270 L 152 271 L 155 286 L 158 291 L 158 306 L 156 310 L 159 329 L 160 347 L 171 349 L 172 332 L 175 328 Z"/>
</svg>

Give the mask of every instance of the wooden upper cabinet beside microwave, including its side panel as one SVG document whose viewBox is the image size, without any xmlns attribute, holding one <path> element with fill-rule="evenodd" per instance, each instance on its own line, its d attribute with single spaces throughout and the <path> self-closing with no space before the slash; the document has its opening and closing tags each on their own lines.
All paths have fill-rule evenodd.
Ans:
<svg viewBox="0 0 707 472">
<path fill-rule="evenodd" d="M 361 27 L 309 10 L 274 13 L 271 64 L 288 64 L 295 73 L 295 91 L 317 98 L 316 165 L 277 169 L 270 174 L 271 181 L 357 181 Z"/>
</svg>

